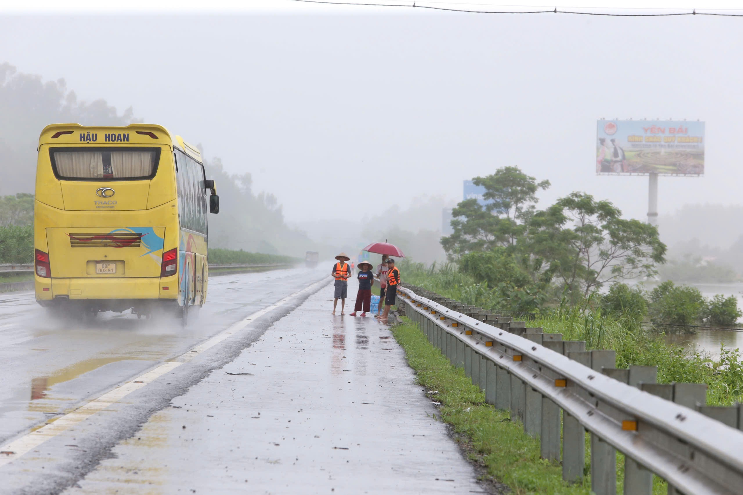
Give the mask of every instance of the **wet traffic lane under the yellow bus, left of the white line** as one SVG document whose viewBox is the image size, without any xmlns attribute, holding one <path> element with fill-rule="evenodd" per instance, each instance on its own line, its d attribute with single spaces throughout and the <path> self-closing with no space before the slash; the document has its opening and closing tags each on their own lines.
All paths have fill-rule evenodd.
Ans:
<svg viewBox="0 0 743 495">
<path fill-rule="evenodd" d="M 217 276 L 198 320 L 100 314 L 75 322 L 47 313 L 30 291 L 0 294 L 0 441 L 77 407 L 225 326 L 322 276 L 305 268 Z"/>
</svg>

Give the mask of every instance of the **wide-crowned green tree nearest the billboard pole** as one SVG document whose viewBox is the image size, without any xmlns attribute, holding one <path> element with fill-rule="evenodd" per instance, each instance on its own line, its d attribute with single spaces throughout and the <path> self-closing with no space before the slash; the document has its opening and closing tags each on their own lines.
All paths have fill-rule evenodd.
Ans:
<svg viewBox="0 0 743 495">
<path fill-rule="evenodd" d="M 584 297 L 607 282 L 655 275 L 666 254 L 658 229 L 621 215 L 609 201 L 571 193 L 533 214 L 526 247 L 545 271 Z"/>
</svg>

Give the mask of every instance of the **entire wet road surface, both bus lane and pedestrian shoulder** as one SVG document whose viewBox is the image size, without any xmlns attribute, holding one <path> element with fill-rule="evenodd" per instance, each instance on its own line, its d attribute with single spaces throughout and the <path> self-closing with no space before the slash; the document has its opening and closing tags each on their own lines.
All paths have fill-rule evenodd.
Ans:
<svg viewBox="0 0 743 495">
<path fill-rule="evenodd" d="M 13 363 L 0 384 L 0 444 L 324 272 L 215 277 L 198 325 L 186 331 L 113 314 L 75 329 L 45 317 L 33 294 L 0 297 L 0 353 Z M 331 297 L 323 284 L 286 300 L 0 463 L 0 493 L 484 493 L 389 330 L 371 318 L 332 317 Z"/>
</svg>

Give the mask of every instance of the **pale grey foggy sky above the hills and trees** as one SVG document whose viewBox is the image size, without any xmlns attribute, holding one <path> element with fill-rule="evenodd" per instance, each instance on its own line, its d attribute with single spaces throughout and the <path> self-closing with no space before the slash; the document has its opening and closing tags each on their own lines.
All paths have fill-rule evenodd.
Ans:
<svg viewBox="0 0 743 495">
<path fill-rule="evenodd" d="M 595 175 L 595 121 L 705 120 L 704 178 L 661 178 L 659 211 L 743 204 L 742 23 L 0 16 L 0 59 L 203 144 L 299 224 L 426 194 L 458 201 L 463 179 L 507 165 L 552 182 L 541 207 L 582 190 L 645 219 L 647 178 Z"/>
</svg>

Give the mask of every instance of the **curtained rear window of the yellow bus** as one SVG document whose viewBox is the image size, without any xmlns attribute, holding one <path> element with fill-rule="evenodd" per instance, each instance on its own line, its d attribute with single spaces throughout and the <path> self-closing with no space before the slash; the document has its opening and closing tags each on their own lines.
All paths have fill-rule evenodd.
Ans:
<svg viewBox="0 0 743 495">
<path fill-rule="evenodd" d="M 159 148 L 54 148 L 49 151 L 58 179 L 132 181 L 155 176 Z"/>
</svg>

